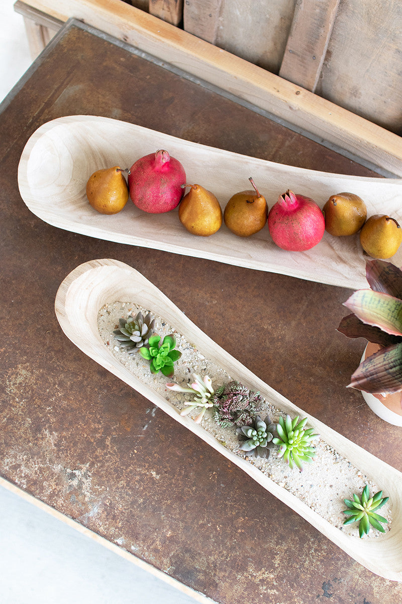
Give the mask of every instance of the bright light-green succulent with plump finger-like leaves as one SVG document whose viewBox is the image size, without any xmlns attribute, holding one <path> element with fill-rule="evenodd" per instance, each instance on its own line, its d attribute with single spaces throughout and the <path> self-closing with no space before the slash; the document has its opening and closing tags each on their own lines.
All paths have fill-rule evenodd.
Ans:
<svg viewBox="0 0 402 604">
<path fill-rule="evenodd" d="M 286 419 L 280 417 L 276 426 L 278 436 L 272 442 L 279 447 L 278 457 L 283 457 L 291 469 L 297 466 L 302 470 L 304 461 L 313 461 L 315 449 L 311 442 L 318 434 L 313 434 L 313 428 L 306 429 L 306 423 L 307 417 L 299 421 L 299 416 L 291 419 L 287 415 Z"/>
</svg>

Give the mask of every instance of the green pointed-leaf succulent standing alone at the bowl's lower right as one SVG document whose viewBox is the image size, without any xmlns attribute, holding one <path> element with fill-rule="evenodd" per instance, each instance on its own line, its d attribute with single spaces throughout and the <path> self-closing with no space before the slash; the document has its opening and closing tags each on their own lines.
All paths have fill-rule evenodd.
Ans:
<svg viewBox="0 0 402 604">
<path fill-rule="evenodd" d="M 347 510 L 344 510 L 344 514 L 348 514 L 350 517 L 345 520 L 344 524 L 352 524 L 353 522 L 359 522 L 359 536 L 360 539 L 363 535 L 367 535 L 370 530 L 370 525 L 377 530 L 385 533 L 385 529 L 382 526 L 382 522 L 388 522 L 386 518 L 380 516 L 374 510 L 380 509 L 387 501 L 389 497 L 383 497 L 383 492 L 378 491 L 372 497 L 370 497 L 368 484 L 362 491 L 361 498 L 359 495 L 354 493 L 353 501 L 345 499 Z"/>
</svg>

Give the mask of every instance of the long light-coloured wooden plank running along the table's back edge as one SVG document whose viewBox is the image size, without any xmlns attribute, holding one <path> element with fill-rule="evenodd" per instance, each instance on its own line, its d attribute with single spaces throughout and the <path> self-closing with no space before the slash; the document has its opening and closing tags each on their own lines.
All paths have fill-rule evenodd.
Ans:
<svg viewBox="0 0 402 604">
<path fill-rule="evenodd" d="M 364 118 L 121 0 L 30 0 L 66 21 L 81 19 L 240 100 L 402 176 L 402 141 Z"/>
</svg>

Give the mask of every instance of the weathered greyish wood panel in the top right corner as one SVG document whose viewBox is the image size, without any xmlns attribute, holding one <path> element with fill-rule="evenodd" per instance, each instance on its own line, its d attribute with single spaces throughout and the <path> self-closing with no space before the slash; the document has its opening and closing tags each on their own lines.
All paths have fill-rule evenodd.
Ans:
<svg viewBox="0 0 402 604">
<path fill-rule="evenodd" d="M 316 92 L 402 135 L 401 48 L 401 2 L 341 2 Z"/>
</svg>

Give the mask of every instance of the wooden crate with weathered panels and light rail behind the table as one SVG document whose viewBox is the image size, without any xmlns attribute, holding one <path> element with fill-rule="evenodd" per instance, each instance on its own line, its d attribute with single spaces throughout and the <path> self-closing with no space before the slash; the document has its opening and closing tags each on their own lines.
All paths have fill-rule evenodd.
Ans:
<svg viewBox="0 0 402 604">
<path fill-rule="evenodd" d="M 53 19 L 81 19 L 402 176 L 398 0 L 134 3 L 28 0 Z"/>
</svg>

